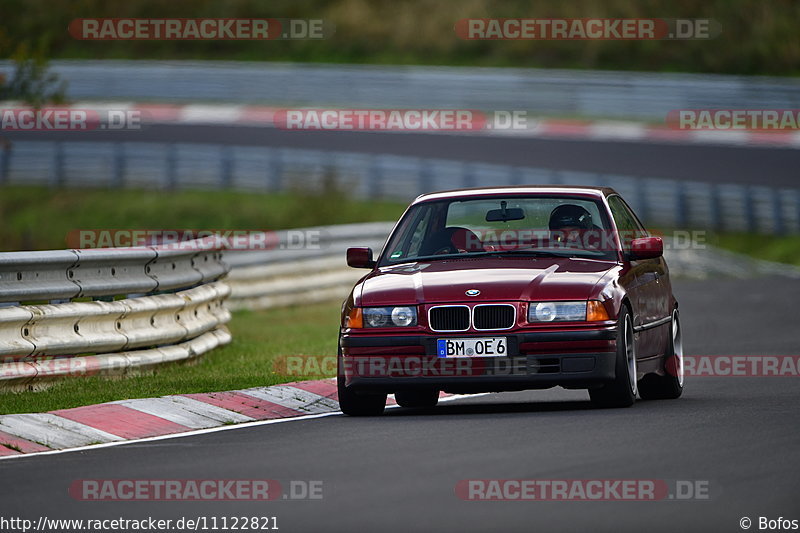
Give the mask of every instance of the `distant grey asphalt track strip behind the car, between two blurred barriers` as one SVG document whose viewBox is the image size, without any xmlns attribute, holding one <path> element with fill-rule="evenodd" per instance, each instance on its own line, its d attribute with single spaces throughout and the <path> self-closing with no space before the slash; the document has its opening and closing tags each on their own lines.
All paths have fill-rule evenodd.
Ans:
<svg viewBox="0 0 800 533">
<path fill-rule="evenodd" d="M 228 125 L 152 125 L 141 131 L 9 132 L 11 141 L 191 142 L 386 153 L 714 183 L 797 187 L 800 150 L 468 135 L 312 132 Z"/>
</svg>

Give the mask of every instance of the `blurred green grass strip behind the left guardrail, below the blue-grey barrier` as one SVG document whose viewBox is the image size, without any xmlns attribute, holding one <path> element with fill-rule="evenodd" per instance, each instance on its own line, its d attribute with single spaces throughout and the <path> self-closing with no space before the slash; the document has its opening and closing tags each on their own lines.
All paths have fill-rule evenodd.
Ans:
<svg viewBox="0 0 800 533">
<path fill-rule="evenodd" d="M 404 204 L 321 193 L 0 188 L 0 251 L 67 247 L 67 234 L 97 229 L 276 230 L 394 220 Z"/>
</svg>

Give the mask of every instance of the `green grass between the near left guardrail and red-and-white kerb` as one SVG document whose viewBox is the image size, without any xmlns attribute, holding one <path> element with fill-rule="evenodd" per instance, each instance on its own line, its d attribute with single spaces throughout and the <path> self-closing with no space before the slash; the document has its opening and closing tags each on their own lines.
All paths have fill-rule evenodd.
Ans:
<svg viewBox="0 0 800 533">
<path fill-rule="evenodd" d="M 233 340 L 212 350 L 197 364 L 158 368 L 151 375 L 126 379 L 74 378 L 38 392 L 0 393 L 0 414 L 38 413 L 81 405 L 152 398 L 168 394 L 213 392 L 309 379 L 286 375 L 282 355 L 336 355 L 339 302 L 233 314 Z M 331 377 L 331 376 L 329 376 Z"/>
</svg>

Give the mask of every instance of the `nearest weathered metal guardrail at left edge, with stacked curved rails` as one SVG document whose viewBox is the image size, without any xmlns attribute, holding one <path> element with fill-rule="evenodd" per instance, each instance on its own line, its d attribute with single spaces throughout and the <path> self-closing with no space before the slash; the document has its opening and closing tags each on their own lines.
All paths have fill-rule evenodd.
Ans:
<svg viewBox="0 0 800 533">
<path fill-rule="evenodd" d="M 0 389 L 129 373 L 229 342 L 228 270 L 202 240 L 0 253 Z"/>
</svg>

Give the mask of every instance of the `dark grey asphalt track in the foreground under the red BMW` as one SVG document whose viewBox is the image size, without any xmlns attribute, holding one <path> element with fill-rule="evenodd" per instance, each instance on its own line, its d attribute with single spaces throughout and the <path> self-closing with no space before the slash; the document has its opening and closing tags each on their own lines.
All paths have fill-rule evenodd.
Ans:
<svg viewBox="0 0 800 533">
<path fill-rule="evenodd" d="M 676 282 L 686 351 L 797 354 L 800 282 Z M 0 514 L 37 519 L 275 516 L 280 531 L 741 531 L 800 519 L 797 378 L 694 378 L 683 398 L 593 409 L 583 391 L 458 399 L 0 461 Z M 320 501 L 79 502 L 79 479 L 321 480 Z M 708 500 L 470 502 L 463 479 L 708 482 Z"/>
</svg>

